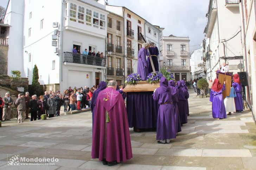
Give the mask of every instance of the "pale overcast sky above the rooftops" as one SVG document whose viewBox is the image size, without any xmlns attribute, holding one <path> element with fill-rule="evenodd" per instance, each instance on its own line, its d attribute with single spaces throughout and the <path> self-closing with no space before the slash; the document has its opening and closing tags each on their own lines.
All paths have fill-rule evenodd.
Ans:
<svg viewBox="0 0 256 170">
<path fill-rule="evenodd" d="M 0 6 L 6 7 L 7 2 L 0 0 Z M 200 48 L 209 0 L 108 0 L 108 3 L 125 6 L 153 25 L 165 28 L 164 36 L 189 36 L 191 52 Z"/>
</svg>

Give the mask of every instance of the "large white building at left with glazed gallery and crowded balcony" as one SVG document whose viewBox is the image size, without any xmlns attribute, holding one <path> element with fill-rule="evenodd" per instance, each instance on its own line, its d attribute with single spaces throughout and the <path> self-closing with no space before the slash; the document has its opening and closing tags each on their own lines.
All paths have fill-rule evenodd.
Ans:
<svg viewBox="0 0 256 170">
<path fill-rule="evenodd" d="M 23 51 L 15 58 L 23 59 L 20 63 L 22 76 L 27 76 L 30 84 L 35 64 L 40 84 L 49 85 L 50 90 L 52 84 L 59 84 L 56 90 L 63 91 L 69 86 L 92 87 L 105 81 L 105 58 L 98 60 L 72 53 L 76 47 L 81 54 L 86 48 L 87 52 L 100 51 L 105 56 L 108 14 L 105 5 L 95 0 L 24 0 L 24 7 L 12 3 L 7 9 L 14 7 L 23 9 L 24 14 L 20 26 L 23 28 Z M 56 23 L 54 28 L 53 22 Z M 54 42 L 53 34 L 57 34 Z M 10 41 L 13 35 L 10 32 Z M 17 42 L 17 46 L 21 45 Z"/>
</svg>

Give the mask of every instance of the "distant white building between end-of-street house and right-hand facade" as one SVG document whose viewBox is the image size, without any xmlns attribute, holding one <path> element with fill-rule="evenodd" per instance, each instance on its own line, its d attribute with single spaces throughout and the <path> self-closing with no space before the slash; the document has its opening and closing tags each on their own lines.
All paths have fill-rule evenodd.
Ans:
<svg viewBox="0 0 256 170">
<path fill-rule="evenodd" d="M 205 79 L 203 48 L 193 50 L 190 58 L 191 78 L 192 80 L 202 77 Z"/>
</svg>

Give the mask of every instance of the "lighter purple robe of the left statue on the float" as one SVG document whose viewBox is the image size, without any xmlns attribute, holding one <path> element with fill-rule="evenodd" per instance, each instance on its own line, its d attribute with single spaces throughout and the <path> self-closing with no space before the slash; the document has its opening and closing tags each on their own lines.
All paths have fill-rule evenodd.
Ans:
<svg viewBox="0 0 256 170">
<path fill-rule="evenodd" d="M 148 76 L 148 63 L 146 60 L 147 49 L 142 47 L 138 53 L 137 73 L 140 75 L 140 79 L 145 81 Z"/>
</svg>

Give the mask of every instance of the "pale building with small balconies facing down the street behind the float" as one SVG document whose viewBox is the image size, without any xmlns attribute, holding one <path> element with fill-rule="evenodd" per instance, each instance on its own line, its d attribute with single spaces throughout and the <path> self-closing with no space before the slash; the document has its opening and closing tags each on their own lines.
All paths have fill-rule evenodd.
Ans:
<svg viewBox="0 0 256 170">
<path fill-rule="evenodd" d="M 191 80 L 189 37 L 163 36 L 161 67 L 168 67 L 175 80 Z"/>
</svg>

